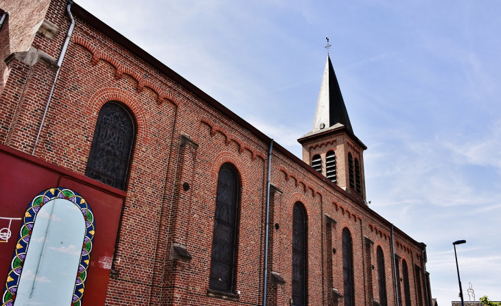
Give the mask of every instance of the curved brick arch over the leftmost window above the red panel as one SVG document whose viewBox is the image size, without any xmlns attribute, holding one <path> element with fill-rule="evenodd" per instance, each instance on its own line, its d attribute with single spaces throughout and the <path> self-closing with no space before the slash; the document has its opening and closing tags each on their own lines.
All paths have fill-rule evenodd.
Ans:
<svg viewBox="0 0 501 306">
<path fill-rule="evenodd" d="M 123 89 L 116 88 L 104 88 L 96 91 L 91 99 L 89 99 L 89 110 L 87 113 L 91 114 L 89 118 L 89 122 L 95 123 L 97 122 L 97 116 L 102 108 L 102 106 L 106 102 L 117 101 L 121 102 L 125 106 L 127 106 L 134 115 L 133 119 L 135 120 L 137 134 L 136 134 L 136 143 L 147 143 L 148 139 L 146 138 L 145 133 L 145 114 L 143 112 L 143 108 L 141 107 L 141 102 L 135 97 L 132 96 L 131 93 L 124 91 Z"/>
</svg>

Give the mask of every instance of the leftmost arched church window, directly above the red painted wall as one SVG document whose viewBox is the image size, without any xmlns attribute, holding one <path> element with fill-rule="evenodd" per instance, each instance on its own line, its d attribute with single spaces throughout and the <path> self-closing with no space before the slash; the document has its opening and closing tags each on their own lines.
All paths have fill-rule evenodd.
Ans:
<svg viewBox="0 0 501 306">
<path fill-rule="evenodd" d="M 129 113 L 115 102 L 104 104 L 97 116 L 85 176 L 124 190 L 134 139 Z"/>
</svg>

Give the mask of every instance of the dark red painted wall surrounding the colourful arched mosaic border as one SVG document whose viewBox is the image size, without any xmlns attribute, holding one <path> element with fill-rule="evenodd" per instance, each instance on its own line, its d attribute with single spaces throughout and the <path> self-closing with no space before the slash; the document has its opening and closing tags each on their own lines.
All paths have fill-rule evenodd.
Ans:
<svg viewBox="0 0 501 306">
<path fill-rule="evenodd" d="M 80 193 L 93 210 L 96 229 L 83 303 L 104 305 L 125 192 L 0 145 L 0 217 L 22 218 L 30 201 L 40 191 L 52 187 Z M 13 220 L 11 237 L 0 243 L 2 282 L 7 278 L 22 221 Z M 3 228 L 8 221 L 0 222 Z"/>
</svg>

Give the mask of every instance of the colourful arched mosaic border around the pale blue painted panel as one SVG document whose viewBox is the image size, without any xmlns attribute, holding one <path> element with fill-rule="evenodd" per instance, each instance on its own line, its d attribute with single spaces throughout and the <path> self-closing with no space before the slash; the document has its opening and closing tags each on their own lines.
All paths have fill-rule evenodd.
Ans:
<svg viewBox="0 0 501 306">
<path fill-rule="evenodd" d="M 85 234 L 83 238 L 82 249 L 80 252 L 80 263 L 78 270 L 75 270 L 75 285 L 73 290 L 72 301 L 69 306 L 81 306 L 82 297 L 84 296 L 85 283 L 91 259 L 92 244 L 95 235 L 95 220 L 89 203 L 80 196 L 80 194 L 62 187 L 47 189 L 40 192 L 28 205 L 23 216 L 23 224 L 17 239 L 16 249 L 12 256 L 10 269 L 5 281 L 1 306 L 14 306 L 16 294 L 23 273 L 28 248 L 30 246 L 30 238 L 32 237 L 33 227 L 40 209 L 51 200 L 63 199 L 69 200 L 75 204 L 85 220 Z M 55 205 L 56 202 L 54 202 Z M 51 216 L 52 218 L 53 216 Z M 56 270 L 58 267 L 54 267 Z M 24 278 L 23 278 L 24 279 Z"/>
</svg>

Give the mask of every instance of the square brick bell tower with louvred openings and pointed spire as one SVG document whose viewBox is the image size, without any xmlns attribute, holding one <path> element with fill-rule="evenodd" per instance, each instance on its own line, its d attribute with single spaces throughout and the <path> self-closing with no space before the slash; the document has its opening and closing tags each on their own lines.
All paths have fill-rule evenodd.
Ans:
<svg viewBox="0 0 501 306">
<path fill-rule="evenodd" d="M 305 163 L 365 203 L 363 153 L 367 147 L 353 133 L 329 54 L 313 128 L 298 141 Z"/>
</svg>

